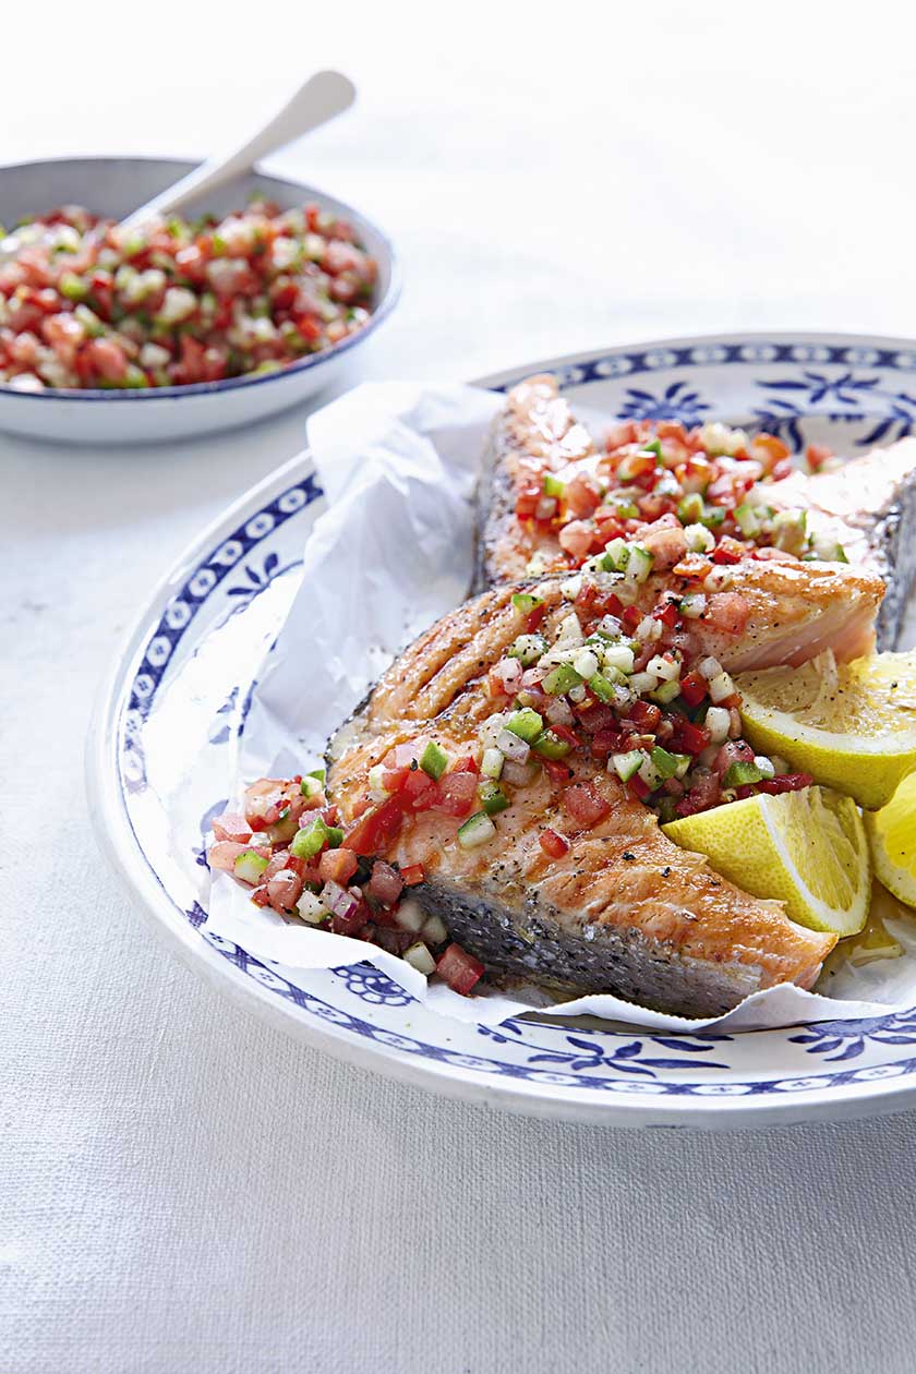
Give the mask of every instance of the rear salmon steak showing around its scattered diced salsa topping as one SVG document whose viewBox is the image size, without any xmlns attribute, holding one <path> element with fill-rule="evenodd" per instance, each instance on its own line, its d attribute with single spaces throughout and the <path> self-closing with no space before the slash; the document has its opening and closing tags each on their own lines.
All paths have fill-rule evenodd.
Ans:
<svg viewBox="0 0 916 1374">
<path fill-rule="evenodd" d="M 639 429 L 640 426 L 630 426 Z M 643 426 L 651 429 L 651 426 Z M 659 434 L 666 430 L 677 430 L 680 426 L 656 426 Z M 710 426 L 713 430 L 726 433 L 724 426 Z M 681 431 L 683 433 L 683 431 Z M 740 431 L 737 431 L 740 433 Z M 747 438 L 746 436 L 743 436 Z M 645 440 L 648 441 L 648 440 Z M 707 440 L 709 442 L 709 440 Z M 780 477 L 780 469 L 788 469 L 783 463 L 775 467 L 766 462 L 758 463 L 753 455 L 766 460 L 766 445 L 775 447 L 779 441 L 764 436 L 748 440 L 750 460 L 733 462 L 728 455 L 724 458 L 726 467 L 732 467 L 739 477 L 735 506 L 742 521 L 742 528 L 733 523 L 733 513 L 728 511 L 726 529 L 732 529 L 736 539 L 725 539 L 721 543 L 726 547 L 743 543 L 744 552 L 758 558 L 780 559 L 786 563 L 799 566 L 801 559 L 794 554 L 805 552 L 806 558 L 817 559 L 814 566 L 835 566 L 834 558 L 846 559 L 858 569 L 872 585 L 875 578 L 880 578 L 886 587 L 886 595 L 878 613 L 878 646 L 894 647 L 900 636 L 906 600 L 916 583 L 916 438 L 906 438 L 887 449 L 878 449 L 864 458 L 845 463 L 839 470 L 831 473 L 805 474 L 791 471 Z M 639 448 L 639 444 L 633 445 Z M 784 453 L 784 445 L 779 445 Z M 700 456 L 700 464 L 703 458 Z M 558 393 L 553 376 L 531 376 L 512 387 L 507 396 L 505 408 L 497 418 L 493 427 L 490 451 L 485 463 L 485 474 L 481 482 L 481 539 L 478 547 L 478 589 L 503 581 L 519 581 L 531 573 L 560 572 L 580 566 L 588 552 L 600 550 L 606 539 L 607 525 L 603 521 L 612 518 L 612 507 L 607 506 L 608 497 L 603 497 L 604 504 L 595 508 L 599 497 L 592 496 L 589 503 L 589 484 L 603 480 L 604 486 L 614 488 L 612 499 L 619 502 L 628 492 L 639 499 L 629 514 L 640 517 L 641 523 L 629 522 L 626 537 L 640 539 L 655 554 L 656 569 L 665 570 L 672 559 L 666 558 L 673 547 L 677 552 L 678 540 L 684 548 L 684 521 L 678 521 L 673 514 L 674 508 L 684 514 L 684 502 L 676 503 L 674 497 L 665 502 L 665 482 L 656 484 L 655 491 L 643 495 L 639 486 L 625 486 L 615 484 L 615 474 L 619 467 L 608 470 L 607 455 L 602 453 L 585 427 L 577 423 L 569 403 Z M 650 459 L 651 466 L 651 459 Z M 699 464 L 698 464 L 699 466 Z M 691 462 L 677 469 L 688 492 L 692 482 Z M 744 477 L 743 474 L 750 474 Z M 759 521 L 754 508 L 740 504 L 742 485 L 754 482 L 755 477 L 765 478 L 759 485 L 757 497 L 759 504 L 769 507 L 768 514 L 780 513 L 779 519 L 784 523 L 777 532 L 776 540 L 780 547 L 754 548 L 758 541 Z M 772 477 L 779 480 L 773 481 Z M 768 480 L 769 478 L 769 480 Z M 713 484 L 715 492 L 724 478 L 720 477 Z M 552 489 L 563 488 L 566 500 L 571 503 L 571 510 L 564 507 L 563 518 L 551 518 L 551 507 L 558 502 L 551 499 L 547 488 L 555 482 Z M 637 478 L 639 482 L 639 478 Z M 529 492 L 531 493 L 530 500 Z M 540 492 L 540 502 L 534 493 Z M 677 495 L 681 495 L 680 492 Z M 575 499 L 573 499 L 575 496 Z M 755 499 L 757 499 L 755 497 Z M 695 510 L 705 504 L 698 496 L 692 496 Z M 728 484 L 725 493 L 718 493 L 715 502 L 728 506 Z M 747 500 L 747 496 L 746 496 Z M 525 504 L 527 502 L 527 504 Z M 584 504 L 580 504 L 584 503 Z M 523 508 L 526 515 L 519 517 Z M 650 514 L 643 517 L 648 508 Z M 652 517 L 655 513 L 667 508 L 670 514 L 661 519 Z M 758 507 L 759 508 L 759 507 Z M 801 533 L 798 525 L 792 525 L 790 513 L 797 515 L 806 513 L 806 532 Z M 559 511 L 556 513 L 559 515 Z M 722 507 L 715 504 L 706 507 L 703 514 L 694 518 L 706 519 L 710 514 L 722 515 Z M 584 519 L 571 519 L 580 515 Z M 688 519 L 689 517 L 685 517 Z M 588 525 L 597 529 L 596 543 L 589 548 Z M 581 529 L 578 529 L 581 526 Z M 667 526 L 667 528 L 666 528 Z M 695 525 L 696 530 L 698 526 Z M 577 544 L 575 534 L 584 540 Z M 703 530 L 699 530 L 700 540 Z M 714 539 L 710 537 L 713 544 Z M 821 552 L 817 552 L 820 550 Z M 722 552 L 722 550 L 720 550 Z M 713 552 L 713 558 L 718 555 Z M 821 562 L 821 559 L 824 562 Z M 735 581 L 743 581 L 748 576 L 746 569 L 735 572 Z M 799 595 L 805 595 L 803 581 L 795 583 Z M 827 588 L 827 583 L 820 583 L 817 576 L 812 578 L 812 587 Z M 740 588 L 736 588 L 740 589 Z M 818 605 L 825 602 L 818 599 Z M 827 633 L 832 633 L 825 627 Z M 856 647 L 856 636 L 850 640 L 854 653 L 862 653 L 871 646 Z M 842 651 L 842 644 L 839 646 Z M 772 662 L 788 661 L 794 658 Z"/>
</svg>

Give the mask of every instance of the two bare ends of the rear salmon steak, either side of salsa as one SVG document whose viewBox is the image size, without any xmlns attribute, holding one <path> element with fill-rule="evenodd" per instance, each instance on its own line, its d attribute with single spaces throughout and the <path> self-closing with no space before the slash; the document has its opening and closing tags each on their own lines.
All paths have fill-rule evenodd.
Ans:
<svg viewBox="0 0 916 1374">
<path fill-rule="evenodd" d="M 599 460 L 592 437 L 549 375 L 512 387 L 493 426 L 479 486 L 478 591 L 519 581 L 534 570 L 570 566 L 549 525 L 515 515 L 519 481 L 530 458 L 564 480 L 591 473 Z M 897 647 L 916 584 L 916 438 L 851 459 L 834 473 L 792 473 L 768 482 L 765 491 L 766 503 L 777 510 L 806 510 L 812 530 L 843 545 L 860 572 L 882 580 L 886 592 L 876 618 L 878 647 Z M 736 574 L 736 580 L 743 576 Z"/>
</svg>

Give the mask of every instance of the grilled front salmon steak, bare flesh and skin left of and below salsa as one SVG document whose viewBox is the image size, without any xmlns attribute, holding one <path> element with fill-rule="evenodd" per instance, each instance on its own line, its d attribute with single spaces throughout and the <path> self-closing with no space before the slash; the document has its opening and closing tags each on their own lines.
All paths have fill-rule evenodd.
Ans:
<svg viewBox="0 0 916 1374">
<path fill-rule="evenodd" d="M 489 669 L 519 633 L 518 591 L 494 588 L 445 616 L 336 732 L 327 790 L 346 826 L 364 812 L 369 769 L 383 760 L 407 750 L 416 767 L 430 741 L 452 757 L 477 749 L 499 709 Z M 551 639 L 573 609 L 569 588 L 548 577 L 522 591 L 541 599 Z M 779 982 L 812 987 L 834 936 L 801 929 L 781 903 L 743 893 L 703 856 L 669 841 L 588 749 L 563 763 L 515 790 L 508 809 L 492 818 L 486 844 L 467 848 L 457 835 L 463 822 L 430 809 L 405 815 L 374 852 L 401 867 L 423 866 L 412 889 L 420 905 L 494 978 L 573 995 L 611 992 L 685 1017 L 721 1014 Z M 603 811 L 591 826 L 570 811 L 570 789 L 582 785 Z M 548 829 L 569 845 L 559 857 L 540 842 Z"/>
</svg>

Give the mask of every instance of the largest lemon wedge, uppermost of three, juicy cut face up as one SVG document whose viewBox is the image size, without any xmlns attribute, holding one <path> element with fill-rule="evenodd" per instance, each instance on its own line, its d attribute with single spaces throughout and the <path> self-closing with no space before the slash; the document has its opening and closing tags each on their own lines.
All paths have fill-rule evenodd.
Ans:
<svg viewBox="0 0 916 1374">
<path fill-rule="evenodd" d="M 916 768 L 916 651 L 742 673 L 744 734 L 814 782 L 878 811 Z"/>
</svg>

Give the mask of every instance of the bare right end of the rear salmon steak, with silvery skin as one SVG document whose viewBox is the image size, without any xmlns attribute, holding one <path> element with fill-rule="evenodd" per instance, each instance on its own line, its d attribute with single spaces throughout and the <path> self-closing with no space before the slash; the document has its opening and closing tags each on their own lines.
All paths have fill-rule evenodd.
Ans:
<svg viewBox="0 0 916 1374">
<path fill-rule="evenodd" d="M 809 525 L 840 543 L 851 563 L 883 578 L 878 647 L 897 649 L 916 587 L 916 438 L 872 449 L 834 473 L 792 473 L 773 482 L 768 500 L 806 510 Z"/>
</svg>

